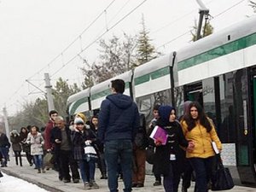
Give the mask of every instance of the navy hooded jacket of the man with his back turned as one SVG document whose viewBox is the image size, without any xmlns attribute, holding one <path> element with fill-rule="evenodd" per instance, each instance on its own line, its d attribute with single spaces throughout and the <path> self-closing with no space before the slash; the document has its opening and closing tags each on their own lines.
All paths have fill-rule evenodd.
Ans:
<svg viewBox="0 0 256 192">
<path fill-rule="evenodd" d="M 98 137 L 102 143 L 116 139 L 133 141 L 139 127 L 137 105 L 131 96 L 113 94 L 102 102 Z"/>
</svg>

